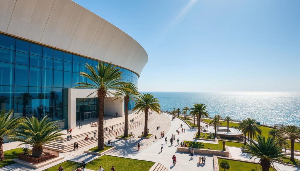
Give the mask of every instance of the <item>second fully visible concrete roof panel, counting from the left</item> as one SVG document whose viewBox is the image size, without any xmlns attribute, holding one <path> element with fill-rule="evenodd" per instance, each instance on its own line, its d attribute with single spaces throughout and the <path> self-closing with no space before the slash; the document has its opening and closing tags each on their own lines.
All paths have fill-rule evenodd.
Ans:
<svg viewBox="0 0 300 171">
<path fill-rule="evenodd" d="M 88 56 L 98 60 L 103 60 L 116 30 L 116 26 L 110 24 L 106 20 L 103 20 L 91 49 L 88 52 Z"/>
</svg>

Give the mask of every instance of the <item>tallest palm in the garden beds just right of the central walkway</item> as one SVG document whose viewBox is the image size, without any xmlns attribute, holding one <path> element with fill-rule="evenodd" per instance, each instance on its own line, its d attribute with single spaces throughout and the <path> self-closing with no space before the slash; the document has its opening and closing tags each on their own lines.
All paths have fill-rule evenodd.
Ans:
<svg viewBox="0 0 300 171">
<path fill-rule="evenodd" d="M 197 116 L 197 123 L 198 123 L 198 136 L 200 136 L 200 132 L 201 132 L 201 116 L 202 117 L 208 117 L 209 114 L 208 114 L 208 111 L 207 111 L 207 106 L 204 105 L 204 104 L 199 104 L 199 103 L 196 103 L 193 105 L 193 108 L 190 108 L 190 113 L 193 115 L 193 116 Z"/>
</svg>

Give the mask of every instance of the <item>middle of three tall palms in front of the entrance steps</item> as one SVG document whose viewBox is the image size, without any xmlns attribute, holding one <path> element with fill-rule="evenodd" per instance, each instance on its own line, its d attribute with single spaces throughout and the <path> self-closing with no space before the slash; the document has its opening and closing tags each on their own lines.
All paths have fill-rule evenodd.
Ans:
<svg viewBox="0 0 300 171">
<path fill-rule="evenodd" d="M 121 84 L 121 89 L 117 90 L 116 95 L 123 96 L 122 101 L 125 102 L 125 125 L 124 125 L 124 137 L 128 136 L 128 102 L 130 100 L 135 101 L 137 96 L 140 96 L 137 86 L 132 83 Z"/>
</svg>

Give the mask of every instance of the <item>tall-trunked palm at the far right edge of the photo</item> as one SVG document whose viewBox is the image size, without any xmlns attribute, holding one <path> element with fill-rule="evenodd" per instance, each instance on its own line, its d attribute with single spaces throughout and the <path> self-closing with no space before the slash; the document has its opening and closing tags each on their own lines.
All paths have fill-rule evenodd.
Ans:
<svg viewBox="0 0 300 171">
<path fill-rule="evenodd" d="M 294 148 L 295 141 L 300 141 L 300 129 L 293 125 L 288 125 L 287 127 L 280 128 L 279 130 L 280 137 L 283 140 L 289 139 L 291 141 L 291 158 L 290 161 L 295 162 L 294 158 Z"/>
</svg>

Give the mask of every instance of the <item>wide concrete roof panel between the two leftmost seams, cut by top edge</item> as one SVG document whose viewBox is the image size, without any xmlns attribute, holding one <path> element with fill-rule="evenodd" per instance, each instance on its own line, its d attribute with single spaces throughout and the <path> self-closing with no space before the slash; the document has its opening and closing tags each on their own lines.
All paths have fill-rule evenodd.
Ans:
<svg viewBox="0 0 300 171">
<path fill-rule="evenodd" d="M 40 42 L 54 0 L 18 0 L 7 33 Z"/>
</svg>

